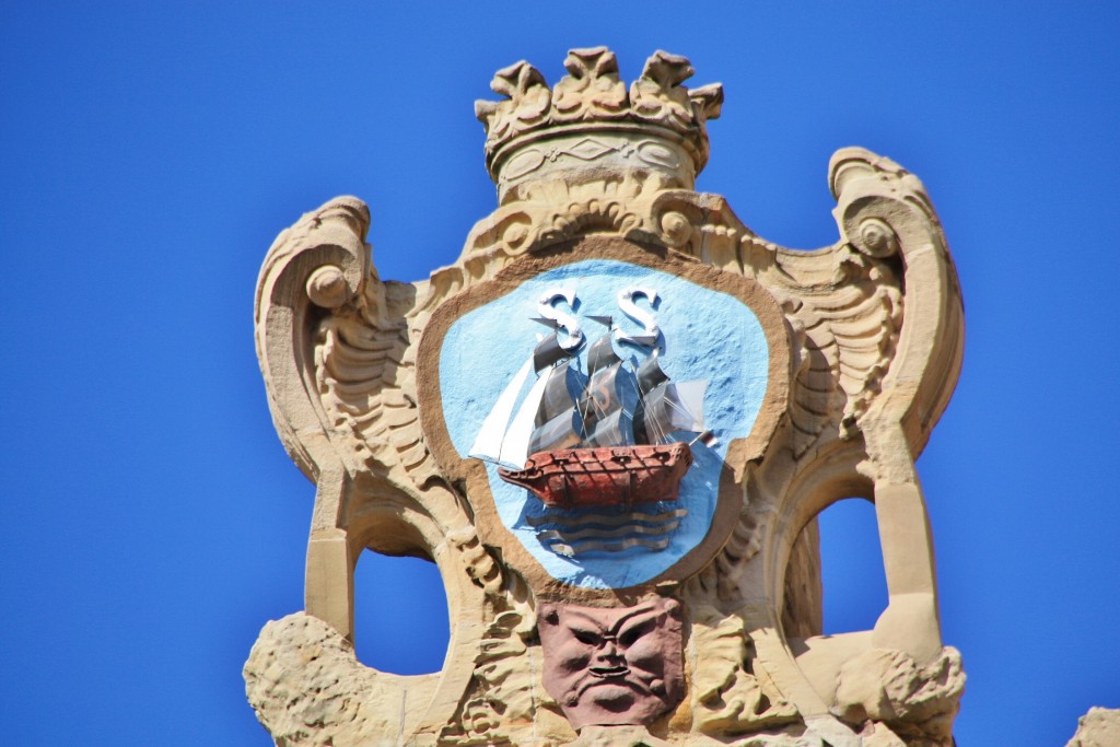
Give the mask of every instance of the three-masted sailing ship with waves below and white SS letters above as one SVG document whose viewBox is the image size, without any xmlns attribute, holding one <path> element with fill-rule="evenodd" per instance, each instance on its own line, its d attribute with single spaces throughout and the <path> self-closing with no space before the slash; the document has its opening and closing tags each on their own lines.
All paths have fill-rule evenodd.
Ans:
<svg viewBox="0 0 1120 747">
<path fill-rule="evenodd" d="M 505 386 L 469 450 L 543 504 L 528 522 L 561 555 L 668 547 L 688 514 L 675 504 L 692 449 L 717 440 L 703 424 L 707 382 L 670 379 L 661 329 L 638 298 L 652 308 L 657 292 L 628 287 L 617 306 L 643 325 L 641 334 L 625 334 L 609 316 L 589 317 L 605 328 L 589 344 L 579 319 L 553 307 L 561 299 L 575 307 L 576 292 L 545 291 L 536 321 L 551 332 Z"/>
</svg>

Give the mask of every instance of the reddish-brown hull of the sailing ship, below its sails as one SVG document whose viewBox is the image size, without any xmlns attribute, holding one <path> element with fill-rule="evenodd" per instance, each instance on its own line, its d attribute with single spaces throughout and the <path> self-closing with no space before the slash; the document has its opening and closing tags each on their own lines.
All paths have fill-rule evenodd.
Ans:
<svg viewBox="0 0 1120 747">
<path fill-rule="evenodd" d="M 691 466 L 692 449 L 678 441 L 539 451 L 524 469 L 497 474 L 528 488 L 550 508 L 581 508 L 675 501 Z"/>
</svg>

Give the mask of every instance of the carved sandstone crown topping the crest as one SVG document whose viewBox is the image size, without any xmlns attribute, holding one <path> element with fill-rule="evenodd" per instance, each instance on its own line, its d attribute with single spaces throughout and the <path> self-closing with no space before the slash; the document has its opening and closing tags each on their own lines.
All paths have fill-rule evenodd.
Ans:
<svg viewBox="0 0 1120 747">
<path fill-rule="evenodd" d="M 719 116 L 722 85 L 684 87 L 692 65 L 660 50 L 629 90 L 606 47 L 572 49 L 564 67 L 568 75 L 550 88 L 522 60 L 491 83 L 504 101 L 475 102 L 486 128 L 486 168 L 500 193 L 554 168 L 644 169 L 683 187 L 694 184 L 708 162 L 706 123 Z"/>
</svg>

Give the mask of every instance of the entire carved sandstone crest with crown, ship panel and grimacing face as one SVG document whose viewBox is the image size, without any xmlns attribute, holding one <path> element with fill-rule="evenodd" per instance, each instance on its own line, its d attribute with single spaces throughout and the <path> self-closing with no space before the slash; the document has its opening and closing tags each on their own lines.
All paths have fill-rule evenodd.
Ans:
<svg viewBox="0 0 1120 747">
<path fill-rule="evenodd" d="M 829 165 L 840 239 L 792 251 L 694 192 L 718 86 L 603 47 L 479 102 L 498 206 L 459 260 L 382 281 L 366 206 L 277 239 L 256 344 L 316 485 L 306 610 L 265 626 L 249 700 L 278 745 L 950 747 L 914 468 L 961 363 L 921 181 Z M 822 635 L 816 515 L 874 502 L 888 605 Z M 353 651 L 362 552 L 432 560 L 451 639 L 401 676 Z"/>
</svg>

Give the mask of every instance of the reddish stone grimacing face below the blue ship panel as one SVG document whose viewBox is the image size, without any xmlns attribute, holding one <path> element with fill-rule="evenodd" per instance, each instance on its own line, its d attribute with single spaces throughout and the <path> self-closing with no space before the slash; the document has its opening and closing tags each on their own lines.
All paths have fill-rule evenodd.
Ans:
<svg viewBox="0 0 1120 747">
<path fill-rule="evenodd" d="M 544 689 L 577 729 L 648 723 L 680 702 L 684 681 L 676 601 L 614 609 L 542 605 L 538 619 Z"/>
</svg>

